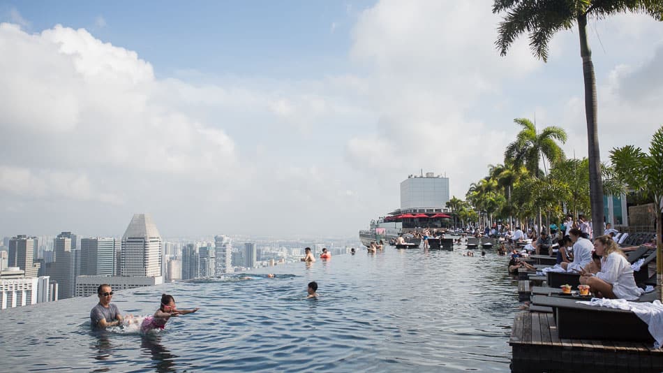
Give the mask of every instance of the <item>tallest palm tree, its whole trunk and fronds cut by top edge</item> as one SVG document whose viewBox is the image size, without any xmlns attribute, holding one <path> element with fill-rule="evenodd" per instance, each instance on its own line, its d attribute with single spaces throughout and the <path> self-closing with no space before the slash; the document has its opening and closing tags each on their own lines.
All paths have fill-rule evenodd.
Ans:
<svg viewBox="0 0 663 373">
<path fill-rule="evenodd" d="M 663 21 L 663 3 L 653 0 L 495 0 L 493 13 L 505 12 L 498 27 L 496 45 L 502 56 L 521 34 L 528 33 L 530 47 L 535 56 L 548 59 L 548 43 L 560 30 L 578 25 L 580 56 L 583 60 L 585 82 L 585 117 L 590 167 L 590 191 L 593 221 L 603 221 L 603 190 L 601 184 L 601 157 L 597 126 L 596 78 L 592 50 L 587 41 L 587 18 L 605 18 L 617 13 L 647 13 Z M 601 233 L 601 224 L 594 224 L 594 235 Z"/>
</svg>

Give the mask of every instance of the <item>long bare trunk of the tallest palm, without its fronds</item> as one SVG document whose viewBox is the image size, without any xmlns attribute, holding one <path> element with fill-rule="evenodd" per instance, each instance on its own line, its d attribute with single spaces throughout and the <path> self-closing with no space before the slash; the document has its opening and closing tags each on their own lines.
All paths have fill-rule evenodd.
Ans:
<svg viewBox="0 0 663 373">
<path fill-rule="evenodd" d="M 597 125 L 596 78 L 592 62 L 592 50 L 587 41 L 587 15 L 578 15 L 580 34 L 580 56 L 583 59 L 585 81 L 585 117 L 587 120 L 587 146 L 589 159 L 589 190 L 592 207 L 594 237 L 602 235 L 603 228 L 603 184 L 601 181 L 601 155 Z"/>
</svg>

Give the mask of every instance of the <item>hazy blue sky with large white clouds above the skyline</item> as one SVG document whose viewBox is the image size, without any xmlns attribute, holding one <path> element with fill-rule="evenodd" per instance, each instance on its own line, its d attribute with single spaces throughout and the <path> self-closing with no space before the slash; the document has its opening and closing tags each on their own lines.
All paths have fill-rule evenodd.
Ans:
<svg viewBox="0 0 663 373">
<path fill-rule="evenodd" d="M 0 235 L 348 237 L 452 195 L 516 117 L 586 156 L 576 29 L 500 57 L 492 1 L 0 2 Z M 663 124 L 663 24 L 590 22 L 603 159 Z"/>
</svg>

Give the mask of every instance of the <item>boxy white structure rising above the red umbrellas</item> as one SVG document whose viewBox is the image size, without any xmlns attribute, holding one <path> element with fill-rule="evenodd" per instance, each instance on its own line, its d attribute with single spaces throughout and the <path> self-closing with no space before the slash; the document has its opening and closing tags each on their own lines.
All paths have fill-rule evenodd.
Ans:
<svg viewBox="0 0 663 373">
<path fill-rule="evenodd" d="M 449 202 L 449 178 L 433 173 L 401 182 L 401 212 L 441 212 Z"/>
</svg>

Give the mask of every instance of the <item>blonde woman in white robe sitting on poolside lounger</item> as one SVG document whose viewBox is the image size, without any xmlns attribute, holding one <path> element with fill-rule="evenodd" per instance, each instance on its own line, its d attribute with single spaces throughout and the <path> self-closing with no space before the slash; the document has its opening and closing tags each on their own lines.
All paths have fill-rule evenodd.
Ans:
<svg viewBox="0 0 663 373">
<path fill-rule="evenodd" d="M 594 249 L 597 255 L 602 256 L 601 270 L 596 275 L 583 271 L 580 283 L 589 285 L 598 297 L 638 299 L 643 290 L 636 286 L 633 270 L 622 249 L 609 235 L 597 237 Z"/>
</svg>

